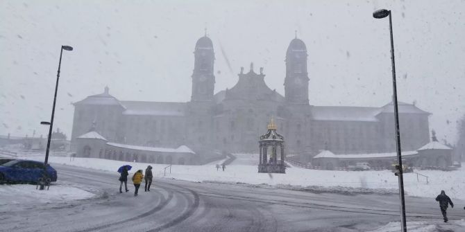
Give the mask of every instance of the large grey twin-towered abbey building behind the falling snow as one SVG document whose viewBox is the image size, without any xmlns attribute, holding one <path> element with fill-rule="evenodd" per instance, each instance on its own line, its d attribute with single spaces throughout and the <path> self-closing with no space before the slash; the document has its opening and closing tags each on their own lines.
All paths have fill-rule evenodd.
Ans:
<svg viewBox="0 0 465 232">
<path fill-rule="evenodd" d="M 286 73 L 282 73 L 284 96 L 267 86 L 263 69 L 256 70 L 253 64 L 246 71 L 241 68 L 234 87 L 215 93 L 214 46 L 209 37 L 201 37 L 194 50 L 189 102 L 119 100 L 105 88 L 74 103 L 72 142 L 76 144 L 94 123 L 94 131 L 109 143 L 174 149 L 184 145 L 202 163 L 214 156 L 214 150 L 258 153 L 260 133 L 274 116 L 286 140 L 286 153 L 301 161 L 310 160 L 319 150 L 394 152 L 392 102 L 381 107 L 310 105 L 307 56 L 304 42 L 292 39 L 286 51 Z M 403 150 L 416 150 L 429 142 L 430 113 L 400 102 L 399 114 Z"/>
</svg>

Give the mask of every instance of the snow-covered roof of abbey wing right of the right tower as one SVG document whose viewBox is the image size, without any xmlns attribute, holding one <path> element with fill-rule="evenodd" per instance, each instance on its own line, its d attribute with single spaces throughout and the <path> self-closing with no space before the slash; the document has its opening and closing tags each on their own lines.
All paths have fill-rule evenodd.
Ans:
<svg viewBox="0 0 465 232">
<path fill-rule="evenodd" d="M 377 122 L 375 107 L 312 107 L 312 118 L 317 121 L 363 121 Z"/>
</svg>

